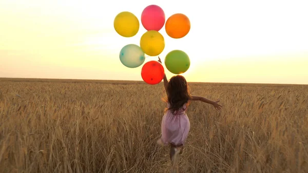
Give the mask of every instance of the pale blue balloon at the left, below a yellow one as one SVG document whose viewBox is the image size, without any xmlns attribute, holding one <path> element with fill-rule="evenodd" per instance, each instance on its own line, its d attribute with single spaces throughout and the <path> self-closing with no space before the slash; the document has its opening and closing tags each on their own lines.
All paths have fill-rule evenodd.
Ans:
<svg viewBox="0 0 308 173">
<path fill-rule="evenodd" d="M 143 64 L 145 61 L 145 55 L 139 46 L 129 44 L 121 49 L 120 61 L 126 67 L 136 68 Z"/>
</svg>

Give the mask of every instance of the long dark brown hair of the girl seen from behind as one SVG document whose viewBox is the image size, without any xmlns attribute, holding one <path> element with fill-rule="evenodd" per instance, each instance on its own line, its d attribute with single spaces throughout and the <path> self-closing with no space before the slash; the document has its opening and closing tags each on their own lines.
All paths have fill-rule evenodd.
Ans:
<svg viewBox="0 0 308 173">
<path fill-rule="evenodd" d="M 185 103 L 189 104 L 191 95 L 186 79 L 182 75 L 172 76 L 167 86 L 167 102 L 170 104 L 167 110 L 175 113 L 182 108 Z"/>
</svg>

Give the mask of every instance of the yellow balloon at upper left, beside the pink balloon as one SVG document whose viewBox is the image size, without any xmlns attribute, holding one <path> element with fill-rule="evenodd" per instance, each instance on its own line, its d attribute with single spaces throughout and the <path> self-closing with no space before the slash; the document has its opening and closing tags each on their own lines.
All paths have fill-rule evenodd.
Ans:
<svg viewBox="0 0 308 173">
<path fill-rule="evenodd" d="M 121 36 L 132 37 L 139 31 L 139 21 L 136 15 L 123 11 L 115 16 L 113 27 Z"/>
</svg>

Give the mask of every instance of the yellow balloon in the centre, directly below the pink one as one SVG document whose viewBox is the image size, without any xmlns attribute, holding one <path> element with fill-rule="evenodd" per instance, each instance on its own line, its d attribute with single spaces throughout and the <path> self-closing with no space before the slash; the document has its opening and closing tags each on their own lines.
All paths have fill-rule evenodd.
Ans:
<svg viewBox="0 0 308 173">
<path fill-rule="evenodd" d="M 150 56 L 157 56 L 165 48 L 164 37 L 158 31 L 147 31 L 141 36 L 140 47 L 145 54 Z"/>
</svg>

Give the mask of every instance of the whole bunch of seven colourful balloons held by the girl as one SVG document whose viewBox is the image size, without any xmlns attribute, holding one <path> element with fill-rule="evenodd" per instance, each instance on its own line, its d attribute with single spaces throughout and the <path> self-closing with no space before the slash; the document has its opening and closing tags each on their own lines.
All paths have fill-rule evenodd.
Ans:
<svg viewBox="0 0 308 173">
<path fill-rule="evenodd" d="M 165 40 L 159 32 L 165 25 L 168 36 L 180 39 L 188 34 L 190 21 L 182 13 L 171 15 L 165 21 L 163 9 L 157 5 L 147 6 L 141 14 L 142 26 L 147 30 L 140 39 L 140 46 L 128 44 L 120 51 L 120 61 L 129 68 L 141 66 L 145 61 L 145 54 L 157 56 L 165 48 Z M 136 15 L 124 11 L 114 18 L 113 27 L 118 34 L 124 37 L 132 37 L 139 31 L 140 23 Z M 166 68 L 174 74 L 181 74 L 188 70 L 190 60 L 188 55 L 181 50 L 172 50 L 165 57 Z M 141 69 L 141 76 L 144 82 L 155 85 L 164 78 L 164 68 L 157 61 L 145 63 Z"/>
</svg>

